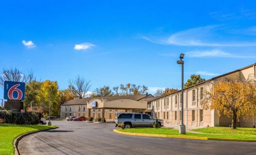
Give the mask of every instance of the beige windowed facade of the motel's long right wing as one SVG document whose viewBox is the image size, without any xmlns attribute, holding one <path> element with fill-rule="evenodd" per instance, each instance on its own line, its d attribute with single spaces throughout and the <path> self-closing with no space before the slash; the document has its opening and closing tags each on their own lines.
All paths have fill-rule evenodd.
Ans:
<svg viewBox="0 0 256 155">
<path fill-rule="evenodd" d="M 253 64 L 184 89 L 184 124 L 191 128 L 230 126 L 231 118 L 223 114 L 219 116 L 219 114 L 213 110 L 203 110 L 200 104 L 203 100 L 203 92 L 213 86 L 211 84 L 212 81 L 223 77 L 233 80 L 251 79 L 254 80 L 255 84 L 255 66 L 256 64 Z M 153 100 L 151 104 L 153 117 L 163 119 L 166 124 L 174 126 L 180 125 L 182 108 L 181 91 L 157 98 Z M 237 120 L 237 126 L 255 126 L 255 115 L 252 117 L 241 117 Z"/>
</svg>

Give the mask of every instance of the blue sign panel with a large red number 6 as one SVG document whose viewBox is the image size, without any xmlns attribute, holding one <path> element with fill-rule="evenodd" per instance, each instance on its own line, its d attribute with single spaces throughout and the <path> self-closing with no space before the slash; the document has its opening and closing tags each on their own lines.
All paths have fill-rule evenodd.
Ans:
<svg viewBox="0 0 256 155">
<path fill-rule="evenodd" d="M 25 100 L 25 83 L 5 81 L 4 99 Z"/>
</svg>

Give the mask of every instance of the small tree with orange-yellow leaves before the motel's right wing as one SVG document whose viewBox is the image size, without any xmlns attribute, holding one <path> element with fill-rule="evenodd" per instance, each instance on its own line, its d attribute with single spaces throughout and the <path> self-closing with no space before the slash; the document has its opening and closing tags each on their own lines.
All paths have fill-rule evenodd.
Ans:
<svg viewBox="0 0 256 155">
<path fill-rule="evenodd" d="M 236 129 L 236 119 L 240 116 L 252 116 L 256 107 L 254 82 L 220 79 L 204 90 L 201 106 L 232 117 L 232 129 Z"/>
</svg>

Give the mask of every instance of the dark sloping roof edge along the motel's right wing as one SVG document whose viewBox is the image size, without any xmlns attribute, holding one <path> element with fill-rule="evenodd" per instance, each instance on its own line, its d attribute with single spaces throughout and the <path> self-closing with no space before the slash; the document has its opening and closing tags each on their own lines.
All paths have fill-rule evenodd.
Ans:
<svg viewBox="0 0 256 155">
<path fill-rule="evenodd" d="M 209 81 L 212 81 L 212 80 L 219 79 L 220 77 L 224 77 L 224 76 L 227 76 L 227 75 L 233 74 L 233 73 L 235 73 L 235 72 L 242 71 L 242 70 L 244 70 L 244 69 L 250 68 L 250 67 L 255 66 L 255 65 L 256 65 L 256 63 L 254 63 L 254 64 L 252 64 L 252 65 L 249 65 L 249 66 L 246 66 L 246 67 L 244 67 L 244 68 L 240 68 L 240 69 L 234 70 L 234 71 L 232 71 L 232 72 L 228 72 L 228 73 L 225 73 L 225 74 L 222 74 L 222 75 L 219 75 L 219 76 L 215 76 L 215 77 L 213 77 L 212 79 L 208 79 L 208 80 L 206 80 L 206 81 L 200 82 L 200 83 L 195 84 L 195 85 L 193 85 L 193 86 L 190 86 L 190 87 L 184 88 L 184 90 L 189 89 L 189 88 L 192 88 L 192 87 L 194 87 L 194 86 L 201 85 L 201 84 L 203 84 L 203 83 L 206 83 L 206 82 L 209 82 Z M 180 91 L 182 91 L 182 90 L 178 90 L 178 91 L 176 91 L 176 92 L 173 92 L 172 94 L 176 94 L 177 92 L 180 92 Z M 153 99 L 152 101 L 155 101 L 155 100 L 157 100 L 157 99 L 160 99 L 160 98 L 164 98 L 164 97 L 170 96 L 170 95 L 172 95 L 172 94 L 168 94 L 168 95 L 165 95 L 165 96 L 161 96 L 161 97 L 159 97 L 159 98 Z"/>
</svg>

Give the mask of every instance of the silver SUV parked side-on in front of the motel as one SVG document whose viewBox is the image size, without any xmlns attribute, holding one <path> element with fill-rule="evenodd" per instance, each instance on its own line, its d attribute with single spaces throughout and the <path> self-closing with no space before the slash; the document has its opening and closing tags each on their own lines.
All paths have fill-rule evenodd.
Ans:
<svg viewBox="0 0 256 155">
<path fill-rule="evenodd" d="M 152 118 L 148 114 L 140 113 L 120 113 L 117 115 L 115 120 L 115 126 L 121 127 L 124 125 L 124 128 L 132 127 L 153 127 L 155 118 Z M 163 120 L 158 119 L 159 127 L 163 126 Z"/>
</svg>

